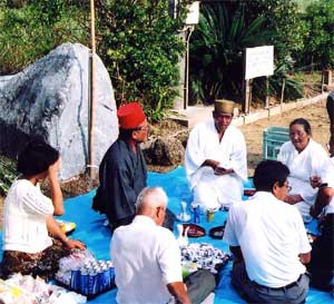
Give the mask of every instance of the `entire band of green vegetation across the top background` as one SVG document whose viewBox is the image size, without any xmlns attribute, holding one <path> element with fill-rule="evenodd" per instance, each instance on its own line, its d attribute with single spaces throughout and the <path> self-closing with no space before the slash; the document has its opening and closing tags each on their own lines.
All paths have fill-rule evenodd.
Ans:
<svg viewBox="0 0 334 304">
<path fill-rule="evenodd" d="M 97 53 L 108 68 L 118 105 L 139 100 L 161 120 L 178 94 L 191 0 L 95 0 Z M 174 12 L 177 12 L 176 14 Z M 190 101 L 242 96 L 243 50 L 273 45 L 269 95 L 302 96 L 298 73 L 334 66 L 333 0 L 203 0 L 190 39 Z M 63 42 L 89 46 L 89 1 L 0 0 L 0 75 L 22 70 Z M 252 81 L 264 100 L 264 78 Z"/>
</svg>

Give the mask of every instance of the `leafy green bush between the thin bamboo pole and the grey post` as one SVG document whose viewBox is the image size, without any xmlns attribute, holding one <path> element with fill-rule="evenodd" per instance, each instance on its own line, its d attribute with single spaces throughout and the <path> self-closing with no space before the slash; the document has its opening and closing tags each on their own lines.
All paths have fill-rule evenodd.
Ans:
<svg viewBox="0 0 334 304">
<path fill-rule="evenodd" d="M 108 66 L 117 104 L 139 100 L 151 120 L 164 117 L 177 94 L 184 42 L 181 18 L 168 1 L 98 1 L 99 53 Z"/>
</svg>

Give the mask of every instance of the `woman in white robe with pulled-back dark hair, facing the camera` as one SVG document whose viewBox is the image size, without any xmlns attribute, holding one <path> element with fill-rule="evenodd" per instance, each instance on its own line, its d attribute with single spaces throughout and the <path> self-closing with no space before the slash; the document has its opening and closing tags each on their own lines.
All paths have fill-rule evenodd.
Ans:
<svg viewBox="0 0 334 304">
<path fill-rule="evenodd" d="M 304 222 L 312 220 L 310 208 L 314 205 L 317 188 L 313 187 L 321 180 L 321 174 L 328 166 L 330 158 L 325 149 L 312 138 L 310 122 L 297 118 L 289 124 L 289 141 L 279 150 L 277 160 L 286 165 L 291 171 L 288 177 L 292 190 L 285 202 L 295 205 Z"/>
</svg>

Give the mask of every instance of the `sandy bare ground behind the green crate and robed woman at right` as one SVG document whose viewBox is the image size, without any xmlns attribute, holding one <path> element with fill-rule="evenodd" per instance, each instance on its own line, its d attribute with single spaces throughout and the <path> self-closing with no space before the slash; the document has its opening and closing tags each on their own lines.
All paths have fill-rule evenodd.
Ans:
<svg viewBox="0 0 334 304">
<path fill-rule="evenodd" d="M 267 127 L 288 127 L 288 124 L 295 118 L 307 119 L 312 127 L 313 139 L 325 147 L 330 139 L 328 116 L 325 101 L 293 109 L 282 115 L 271 117 L 271 119 L 261 119 L 250 125 L 242 126 L 239 129 L 243 131 L 247 143 L 249 176 L 253 175 L 255 166 L 262 160 L 264 129 Z"/>
</svg>

